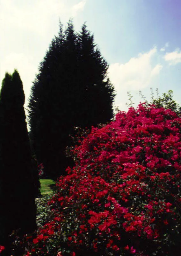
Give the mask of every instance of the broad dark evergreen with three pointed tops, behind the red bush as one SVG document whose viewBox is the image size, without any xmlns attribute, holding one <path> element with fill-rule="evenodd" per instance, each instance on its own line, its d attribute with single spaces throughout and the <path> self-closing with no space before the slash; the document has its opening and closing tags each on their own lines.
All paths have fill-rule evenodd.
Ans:
<svg viewBox="0 0 181 256">
<path fill-rule="evenodd" d="M 37 160 L 49 177 L 71 165 L 64 155 L 74 126 L 90 128 L 113 117 L 114 89 L 108 65 L 95 49 L 94 37 L 83 24 L 77 34 L 70 20 L 49 46 L 33 82 L 29 100 L 31 137 Z"/>
</svg>

